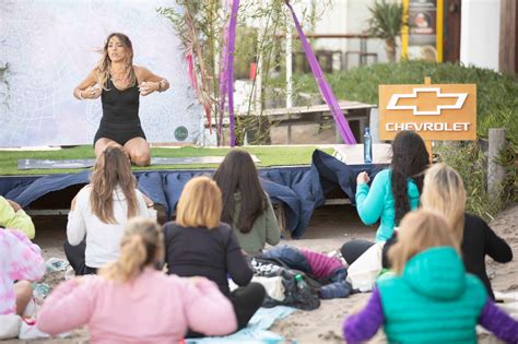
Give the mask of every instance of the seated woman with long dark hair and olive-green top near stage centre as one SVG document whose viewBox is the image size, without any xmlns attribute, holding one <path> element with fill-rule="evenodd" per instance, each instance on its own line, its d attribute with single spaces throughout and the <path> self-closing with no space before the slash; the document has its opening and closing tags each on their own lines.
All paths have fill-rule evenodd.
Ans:
<svg viewBox="0 0 518 344">
<path fill-rule="evenodd" d="M 243 250 L 257 254 L 266 244 L 278 245 L 279 224 L 250 154 L 242 150 L 228 152 L 213 179 L 223 195 L 221 220 L 232 225 Z"/>
</svg>

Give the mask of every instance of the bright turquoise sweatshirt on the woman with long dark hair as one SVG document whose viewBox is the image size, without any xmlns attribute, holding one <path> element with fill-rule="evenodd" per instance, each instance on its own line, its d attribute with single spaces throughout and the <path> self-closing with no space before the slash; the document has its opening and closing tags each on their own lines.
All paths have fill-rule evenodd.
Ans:
<svg viewBox="0 0 518 344">
<path fill-rule="evenodd" d="M 356 209 L 366 225 L 374 225 L 380 220 L 379 228 L 376 232 L 376 242 L 390 239 L 396 223 L 396 207 L 392 197 L 391 169 L 384 169 L 376 175 L 370 188 L 366 183 L 361 183 L 356 188 Z M 419 206 L 417 185 L 409 179 L 408 195 L 410 209 Z"/>
</svg>

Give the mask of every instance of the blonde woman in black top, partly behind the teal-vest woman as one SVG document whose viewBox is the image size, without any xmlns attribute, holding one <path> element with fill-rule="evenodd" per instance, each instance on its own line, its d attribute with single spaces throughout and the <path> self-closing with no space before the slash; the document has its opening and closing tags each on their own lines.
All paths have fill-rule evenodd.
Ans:
<svg viewBox="0 0 518 344">
<path fill-rule="evenodd" d="M 421 203 L 424 209 L 445 216 L 454 238 L 460 245 L 466 271 L 476 275 L 494 299 L 485 272 L 485 256 L 499 263 L 507 263 L 513 259 L 513 251 L 482 218 L 464 212 L 466 190 L 459 174 L 445 164 L 432 166 L 424 177 Z"/>
</svg>

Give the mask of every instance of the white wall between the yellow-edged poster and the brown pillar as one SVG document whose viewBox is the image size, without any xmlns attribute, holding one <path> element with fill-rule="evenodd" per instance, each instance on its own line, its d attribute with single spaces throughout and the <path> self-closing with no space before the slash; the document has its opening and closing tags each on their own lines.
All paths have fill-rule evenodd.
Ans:
<svg viewBox="0 0 518 344">
<path fill-rule="evenodd" d="M 499 0 L 462 0 L 460 61 L 498 70 Z"/>
</svg>

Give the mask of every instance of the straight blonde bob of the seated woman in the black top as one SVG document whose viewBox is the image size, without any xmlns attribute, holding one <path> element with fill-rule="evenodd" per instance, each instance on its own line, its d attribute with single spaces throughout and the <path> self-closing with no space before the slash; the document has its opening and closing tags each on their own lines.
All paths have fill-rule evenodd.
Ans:
<svg viewBox="0 0 518 344">
<path fill-rule="evenodd" d="M 220 226 L 221 191 L 208 177 L 195 177 L 186 183 L 176 209 L 176 223 L 183 227 Z"/>
</svg>

